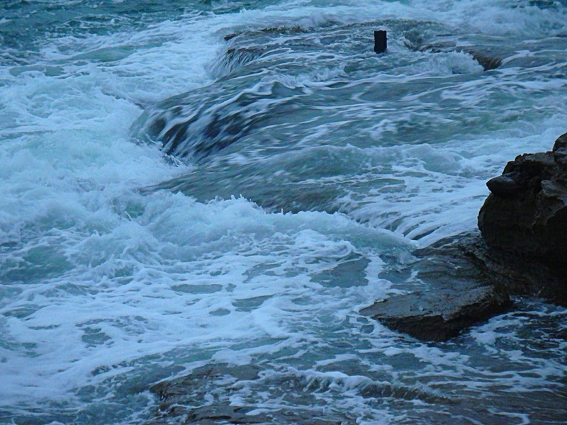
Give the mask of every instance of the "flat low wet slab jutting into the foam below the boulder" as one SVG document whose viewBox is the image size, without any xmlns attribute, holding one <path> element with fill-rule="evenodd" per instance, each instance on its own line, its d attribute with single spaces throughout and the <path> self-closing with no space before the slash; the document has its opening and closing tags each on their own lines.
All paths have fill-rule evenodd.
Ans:
<svg viewBox="0 0 567 425">
<path fill-rule="evenodd" d="M 415 251 L 416 261 L 398 273 L 413 274 L 421 288 L 361 310 L 386 327 L 423 341 L 446 341 L 473 324 L 510 310 L 502 285 L 494 285 L 468 245 L 478 234 L 446 239 Z M 409 272 L 409 273 L 408 273 Z"/>
</svg>

